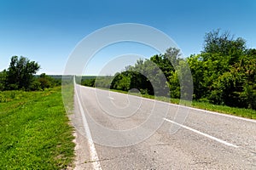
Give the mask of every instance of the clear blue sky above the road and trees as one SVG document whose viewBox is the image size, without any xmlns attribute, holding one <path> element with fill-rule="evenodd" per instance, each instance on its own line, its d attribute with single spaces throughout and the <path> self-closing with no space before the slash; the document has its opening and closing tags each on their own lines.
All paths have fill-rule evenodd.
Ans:
<svg viewBox="0 0 256 170">
<path fill-rule="evenodd" d="M 8 68 L 11 56 L 22 55 L 41 65 L 38 73 L 62 74 L 78 42 L 119 23 L 139 23 L 165 32 L 184 56 L 200 53 L 206 32 L 218 28 L 256 48 L 255 19 L 254 0 L 0 0 L 0 71 Z M 154 54 L 137 49 L 131 53 Z M 101 70 L 101 57 L 113 54 L 105 51 L 85 74 Z"/>
</svg>

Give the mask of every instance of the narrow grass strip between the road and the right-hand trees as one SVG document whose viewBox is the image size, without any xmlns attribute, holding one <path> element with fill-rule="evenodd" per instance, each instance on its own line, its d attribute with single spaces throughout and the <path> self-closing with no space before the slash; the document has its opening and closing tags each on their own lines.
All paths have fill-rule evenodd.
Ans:
<svg viewBox="0 0 256 170">
<path fill-rule="evenodd" d="M 106 89 L 106 88 L 102 88 L 102 89 Z M 128 94 L 128 92 L 121 91 L 121 90 L 111 89 L 111 91 L 122 93 L 122 94 Z M 152 96 L 148 94 L 136 94 L 136 93 L 129 93 L 129 94 L 142 96 L 143 98 L 156 99 L 160 101 L 170 102 L 173 104 L 179 104 L 179 99 L 171 99 L 170 101 L 170 99 L 166 97 Z M 192 101 L 191 107 L 203 109 L 207 111 L 218 111 L 220 113 L 230 114 L 234 116 L 241 116 L 241 117 L 246 117 L 250 119 L 256 119 L 256 111 L 251 109 L 242 109 L 242 108 L 230 107 L 226 105 L 212 105 L 207 102 L 199 102 L 199 101 Z"/>
</svg>

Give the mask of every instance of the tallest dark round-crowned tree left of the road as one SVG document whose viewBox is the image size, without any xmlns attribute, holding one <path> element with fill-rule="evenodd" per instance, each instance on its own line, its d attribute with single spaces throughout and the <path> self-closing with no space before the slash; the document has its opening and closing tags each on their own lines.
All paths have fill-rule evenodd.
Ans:
<svg viewBox="0 0 256 170">
<path fill-rule="evenodd" d="M 7 88 L 9 90 L 29 90 L 33 82 L 33 74 L 36 74 L 40 65 L 25 57 L 13 56 L 7 71 Z"/>
</svg>

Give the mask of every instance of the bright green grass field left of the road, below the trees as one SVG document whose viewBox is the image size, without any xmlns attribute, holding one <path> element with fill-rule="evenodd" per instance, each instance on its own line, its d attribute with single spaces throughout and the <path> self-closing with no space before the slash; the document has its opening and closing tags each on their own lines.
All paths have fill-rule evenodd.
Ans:
<svg viewBox="0 0 256 170">
<path fill-rule="evenodd" d="M 73 166 L 73 127 L 61 88 L 0 92 L 0 169 Z"/>
</svg>

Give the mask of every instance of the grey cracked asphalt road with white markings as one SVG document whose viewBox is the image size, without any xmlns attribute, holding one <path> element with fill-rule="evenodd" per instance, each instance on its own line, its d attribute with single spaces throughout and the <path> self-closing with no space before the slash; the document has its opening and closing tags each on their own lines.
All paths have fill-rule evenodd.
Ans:
<svg viewBox="0 0 256 170">
<path fill-rule="evenodd" d="M 256 169 L 253 120 L 187 108 L 185 117 L 182 107 L 152 99 L 79 85 L 75 92 L 76 169 Z"/>
</svg>

